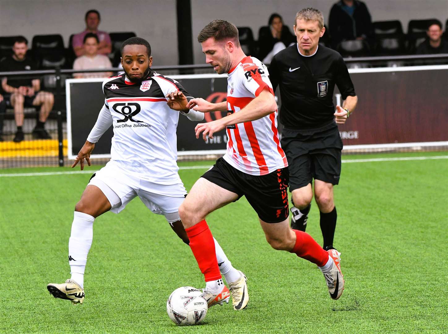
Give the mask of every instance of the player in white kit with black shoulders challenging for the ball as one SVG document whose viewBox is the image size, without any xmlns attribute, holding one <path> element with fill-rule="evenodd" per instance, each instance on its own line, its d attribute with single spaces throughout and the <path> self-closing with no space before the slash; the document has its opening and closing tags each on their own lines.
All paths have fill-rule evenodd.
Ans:
<svg viewBox="0 0 448 334">
<path fill-rule="evenodd" d="M 111 160 L 90 178 L 75 206 L 69 239 L 71 278 L 47 285 L 55 298 L 73 304 L 84 301 L 84 270 L 93 222 L 99 215 L 109 210 L 119 213 L 139 197 L 152 212 L 163 214 L 177 235 L 189 243 L 178 213 L 186 191 L 177 172 L 176 111 L 193 121 L 203 120 L 203 113 L 186 107 L 192 97 L 179 82 L 151 70 L 151 46 L 146 40 L 126 40 L 121 56 L 125 74 L 103 81 L 103 108 L 72 167 L 80 163 L 83 169 L 84 159 L 90 166 L 95 142 L 112 125 Z M 241 291 L 247 290 L 246 276 L 233 268 L 216 240 L 215 249 L 221 273 L 233 289 L 222 300 L 209 300 L 208 306 L 228 303 L 230 295 L 233 305 L 239 305 Z"/>
</svg>

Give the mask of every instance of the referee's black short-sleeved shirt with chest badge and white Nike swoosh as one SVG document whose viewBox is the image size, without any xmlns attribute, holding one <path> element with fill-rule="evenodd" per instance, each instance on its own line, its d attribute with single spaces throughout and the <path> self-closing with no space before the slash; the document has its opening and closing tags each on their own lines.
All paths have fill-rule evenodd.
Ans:
<svg viewBox="0 0 448 334">
<path fill-rule="evenodd" d="M 327 128 L 334 123 L 333 91 L 356 96 L 340 54 L 319 45 L 313 56 L 302 56 L 297 44 L 277 53 L 269 66 L 274 91 L 280 86 L 280 121 L 291 130 Z"/>
</svg>

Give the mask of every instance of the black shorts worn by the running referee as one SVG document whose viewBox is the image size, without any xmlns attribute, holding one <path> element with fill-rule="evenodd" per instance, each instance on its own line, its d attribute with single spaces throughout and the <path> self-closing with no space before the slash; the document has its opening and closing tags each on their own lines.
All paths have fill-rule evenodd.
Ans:
<svg viewBox="0 0 448 334">
<path fill-rule="evenodd" d="M 289 191 L 305 187 L 312 180 L 338 184 L 342 140 L 334 127 L 307 133 L 284 129 L 281 146 L 289 165 Z"/>
</svg>

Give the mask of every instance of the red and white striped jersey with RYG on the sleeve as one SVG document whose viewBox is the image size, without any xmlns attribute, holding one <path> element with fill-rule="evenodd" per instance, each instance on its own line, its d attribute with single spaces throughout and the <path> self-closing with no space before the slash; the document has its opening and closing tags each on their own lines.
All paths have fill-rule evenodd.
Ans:
<svg viewBox="0 0 448 334">
<path fill-rule="evenodd" d="M 274 95 L 267 67 L 245 57 L 228 73 L 227 113 L 238 112 L 266 87 Z M 244 112 L 244 111 L 243 111 Z M 250 175 L 265 175 L 288 166 L 277 131 L 277 111 L 258 120 L 227 127 L 225 161 Z"/>
</svg>

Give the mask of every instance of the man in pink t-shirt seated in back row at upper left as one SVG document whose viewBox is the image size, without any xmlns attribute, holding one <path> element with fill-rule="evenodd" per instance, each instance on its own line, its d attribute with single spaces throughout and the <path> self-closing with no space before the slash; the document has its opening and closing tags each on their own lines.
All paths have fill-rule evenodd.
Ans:
<svg viewBox="0 0 448 334">
<path fill-rule="evenodd" d="M 98 46 L 98 54 L 100 55 L 108 55 L 112 51 L 112 42 L 109 34 L 105 31 L 98 30 L 99 22 L 101 21 L 101 17 L 99 12 L 95 9 L 90 9 L 86 13 L 86 30 L 80 32 L 73 36 L 73 51 L 77 57 L 83 56 L 86 53 L 84 49 L 84 36 L 88 33 L 93 33 L 98 36 L 99 46 Z"/>
</svg>

